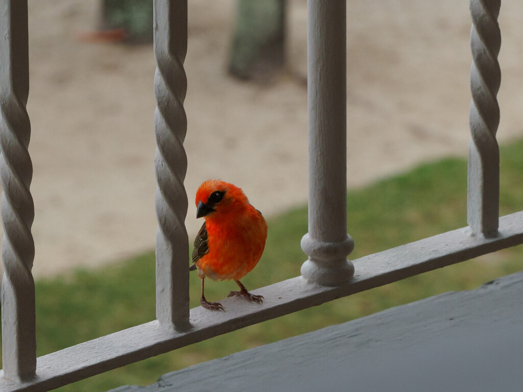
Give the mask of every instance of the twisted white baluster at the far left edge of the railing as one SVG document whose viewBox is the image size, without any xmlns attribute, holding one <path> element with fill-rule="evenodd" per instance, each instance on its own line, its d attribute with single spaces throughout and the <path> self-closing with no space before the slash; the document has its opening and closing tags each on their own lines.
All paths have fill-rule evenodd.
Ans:
<svg viewBox="0 0 523 392">
<path fill-rule="evenodd" d="M 30 379 L 36 371 L 35 282 L 31 274 L 35 207 L 27 150 L 31 127 L 27 0 L 0 1 L 0 180 L 4 225 L 2 261 L 3 376 Z"/>
</svg>

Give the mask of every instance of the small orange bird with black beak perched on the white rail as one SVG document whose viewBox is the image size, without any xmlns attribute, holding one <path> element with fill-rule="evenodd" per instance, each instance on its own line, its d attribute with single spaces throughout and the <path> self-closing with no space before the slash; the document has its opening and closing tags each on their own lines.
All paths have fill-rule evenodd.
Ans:
<svg viewBox="0 0 523 392">
<path fill-rule="evenodd" d="M 242 296 L 261 304 L 264 297 L 251 294 L 240 282 L 258 263 L 265 248 L 267 223 L 261 212 L 248 201 L 243 191 L 221 180 L 204 181 L 196 192 L 196 217 L 205 222 L 196 236 L 190 271 L 198 270 L 201 279 L 201 306 L 224 310 L 219 302 L 209 302 L 203 294 L 203 281 L 234 279 Z"/>
</svg>

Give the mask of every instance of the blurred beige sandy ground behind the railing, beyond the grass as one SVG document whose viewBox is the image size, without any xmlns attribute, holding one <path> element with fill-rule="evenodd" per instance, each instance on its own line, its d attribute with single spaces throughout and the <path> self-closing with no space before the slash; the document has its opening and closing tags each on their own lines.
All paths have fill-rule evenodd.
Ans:
<svg viewBox="0 0 523 392">
<path fill-rule="evenodd" d="M 29 0 L 36 276 L 154 248 L 152 46 L 79 42 L 97 3 Z M 207 178 L 241 186 L 267 216 L 306 201 L 306 2 L 289 7 L 289 69 L 264 86 L 225 73 L 234 4 L 189 1 L 190 237 Z M 348 186 L 467 154 L 468 2 L 348 0 L 347 9 Z M 505 0 L 499 21 L 506 141 L 523 135 L 523 3 Z"/>
</svg>

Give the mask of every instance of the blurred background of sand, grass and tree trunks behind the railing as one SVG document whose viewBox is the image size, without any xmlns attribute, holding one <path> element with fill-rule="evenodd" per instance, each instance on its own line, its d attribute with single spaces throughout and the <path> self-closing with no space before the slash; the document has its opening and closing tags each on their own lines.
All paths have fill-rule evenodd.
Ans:
<svg viewBox="0 0 523 392">
<path fill-rule="evenodd" d="M 29 0 L 39 355 L 154 318 L 151 3 Z M 306 258 L 299 247 L 308 192 L 306 1 L 190 0 L 188 15 L 189 238 L 201 225 L 194 206 L 199 184 L 222 178 L 242 187 L 269 219 L 266 253 L 247 287 L 296 276 Z M 516 141 L 523 136 L 523 3 L 505 0 L 499 24 L 497 135 L 508 143 L 501 196 L 502 213 L 508 213 L 523 208 L 523 147 Z M 467 225 L 470 27 L 467 1 L 347 1 L 351 258 Z M 458 158 L 440 160 L 448 156 Z M 420 276 L 340 299 L 66 390 L 150 383 L 162 372 L 472 288 L 521 268 L 521 249 L 497 255 L 437 271 L 439 279 Z M 437 281 L 444 284 L 434 286 Z M 206 292 L 214 301 L 232 287 L 211 283 Z M 198 291 L 191 275 L 191 306 L 198 305 Z"/>
</svg>

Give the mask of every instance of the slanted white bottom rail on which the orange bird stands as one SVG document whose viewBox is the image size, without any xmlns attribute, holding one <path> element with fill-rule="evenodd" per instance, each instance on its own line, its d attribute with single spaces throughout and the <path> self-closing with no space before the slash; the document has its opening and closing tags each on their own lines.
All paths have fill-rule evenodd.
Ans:
<svg viewBox="0 0 523 392">
<path fill-rule="evenodd" d="M 221 303 L 226 312 L 193 308 L 192 329 L 187 332 L 167 331 L 158 321 L 151 321 L 41 356 L 36 379 L 15 383 L 0 378 L 0 390 L 50 390 L 261 321 L 523 243 L 523 212 L 503 216 L 499 223 L 499 236 L 495 238 L 473 236 L 470 228 L 464 227 L 354 260 L 356 273 L 345 285 L 326 287 L 298 276 L 254 290 L 254 294 L 265 297 L 262 306 L 241 298 L 225 298 Z"/>
</svg>

